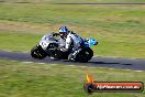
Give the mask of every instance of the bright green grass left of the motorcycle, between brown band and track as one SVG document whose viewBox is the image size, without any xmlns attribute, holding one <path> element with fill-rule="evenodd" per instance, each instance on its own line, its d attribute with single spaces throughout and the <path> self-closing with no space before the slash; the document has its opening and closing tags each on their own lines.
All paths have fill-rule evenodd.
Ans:
<svg viewBox="0 0 145 97">
<path fill-rule="evenodd" d="M 2 41 L 0 48 L 29 52 L 38 43 L 42 35 L 35 34 L 0 33 L 0 40 Z"/>
</svg>

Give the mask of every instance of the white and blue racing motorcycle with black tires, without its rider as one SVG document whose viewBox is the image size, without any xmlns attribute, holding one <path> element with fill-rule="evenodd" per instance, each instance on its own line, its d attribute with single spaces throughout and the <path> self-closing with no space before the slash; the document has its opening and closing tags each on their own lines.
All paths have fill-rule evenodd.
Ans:
<svg viewBox="0 0 145 97">
<path fill-rule="evenodd" d="M 97 44 L 98 42 L 94 39 L 83 39 L 81 46 L 72 53 L 72 61 L 81 63 L 90 61 L 93 56 L 93 51 L 91 50 L 91 46 Z M 53 57 L 54 60 L 71 61 L 69 58 L 70 52 L 60 51 L 64 45 L 65 43 L 58 33 L 44 35 L 40 43 L 31 50 L 31 56 L 38 60 L 43 60 L 48 56 Z"/>
</svg>

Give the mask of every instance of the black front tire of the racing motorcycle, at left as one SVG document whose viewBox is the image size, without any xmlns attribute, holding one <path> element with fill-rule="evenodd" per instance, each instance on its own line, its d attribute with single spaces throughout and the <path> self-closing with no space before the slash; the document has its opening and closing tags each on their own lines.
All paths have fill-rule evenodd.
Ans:
<svg viewBox="0 0 145 97">
<path fill-rule="evenodd" d="M 40 45 L 36 45 L 31 50 L 31 56 L 34 58 L 43 60 L 47 56 L 47 54 L 43 51 Z"/>
</svg>

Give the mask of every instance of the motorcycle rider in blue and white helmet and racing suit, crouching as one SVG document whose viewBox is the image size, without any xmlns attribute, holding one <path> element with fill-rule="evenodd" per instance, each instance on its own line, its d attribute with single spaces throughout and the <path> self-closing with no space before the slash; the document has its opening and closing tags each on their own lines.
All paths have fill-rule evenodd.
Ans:
<svg viewBox="0 0 145 97">
<path fill-rule="evenodd" d="M 68 60 L 72 61 L 74 56 L 77 54 L 77 50 L 83 43 L 83 40 L 72 31 L 69 31 L 67 26 L 62 26 L 59 29 L 59 35 L 65 42 L 60 51 L 70 53 Z"/>
</svg>

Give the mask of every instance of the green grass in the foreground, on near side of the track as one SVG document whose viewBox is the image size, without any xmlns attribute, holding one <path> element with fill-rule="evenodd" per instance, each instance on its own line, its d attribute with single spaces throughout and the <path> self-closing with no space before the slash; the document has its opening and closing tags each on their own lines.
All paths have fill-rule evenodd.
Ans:
<svg viewBox="0 0 145 97">
<path fill-rule="evenodd" d="M 145 72 L 0 60 L 0 97 L 88 97 L 86 73 L 98 82 L 143 82 Z M 89 97 L 144 97 L 145 93 L 96 93 Z"/>
</svg>

